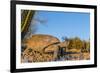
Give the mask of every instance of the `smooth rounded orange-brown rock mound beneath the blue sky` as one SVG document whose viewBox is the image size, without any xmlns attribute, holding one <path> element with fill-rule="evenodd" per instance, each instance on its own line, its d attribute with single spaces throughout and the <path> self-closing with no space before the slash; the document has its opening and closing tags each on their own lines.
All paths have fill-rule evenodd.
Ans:
<svg viewBox="0 0 100 73">
<path fill-rule="evenodd" d="M 44 47 L 56 42 L 60 42 L 60 40 L 51 35 L 34 34 L 31 38 L 25 39 L 22 43 L 28 45 L 28 47 L 41 48 L 42 50 Z"/>
</svg>

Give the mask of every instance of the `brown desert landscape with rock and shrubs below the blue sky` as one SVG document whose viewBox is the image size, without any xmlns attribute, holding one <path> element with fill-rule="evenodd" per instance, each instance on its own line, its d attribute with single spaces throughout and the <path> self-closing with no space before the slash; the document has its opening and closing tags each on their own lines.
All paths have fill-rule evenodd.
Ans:
<svg viewBox="0 0 100 73">
<path fill-rule="evenodd" d="M 61 60 L 89 60 L 89 41 L 78 37 L 65 39 L 64 42 L 56 37 L 35 34 L 22 41 L 22 62 L 49 62 Z"/>
</svg>

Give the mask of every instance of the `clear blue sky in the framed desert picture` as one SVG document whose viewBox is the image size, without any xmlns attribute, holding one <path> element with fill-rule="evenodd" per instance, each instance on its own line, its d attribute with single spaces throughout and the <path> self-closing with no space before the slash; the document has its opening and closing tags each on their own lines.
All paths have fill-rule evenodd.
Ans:
<svg viewBox="0 0 100 73">
<path fill-rule="evenodd" d="M 62 37 L 79 37 L 82 40 L 90 37 L 89 13 L 38 11 L 34 18 L 45 21 L 36 23 L 36 34 L 48 34 L 60 40 Z"/>
</svg>

